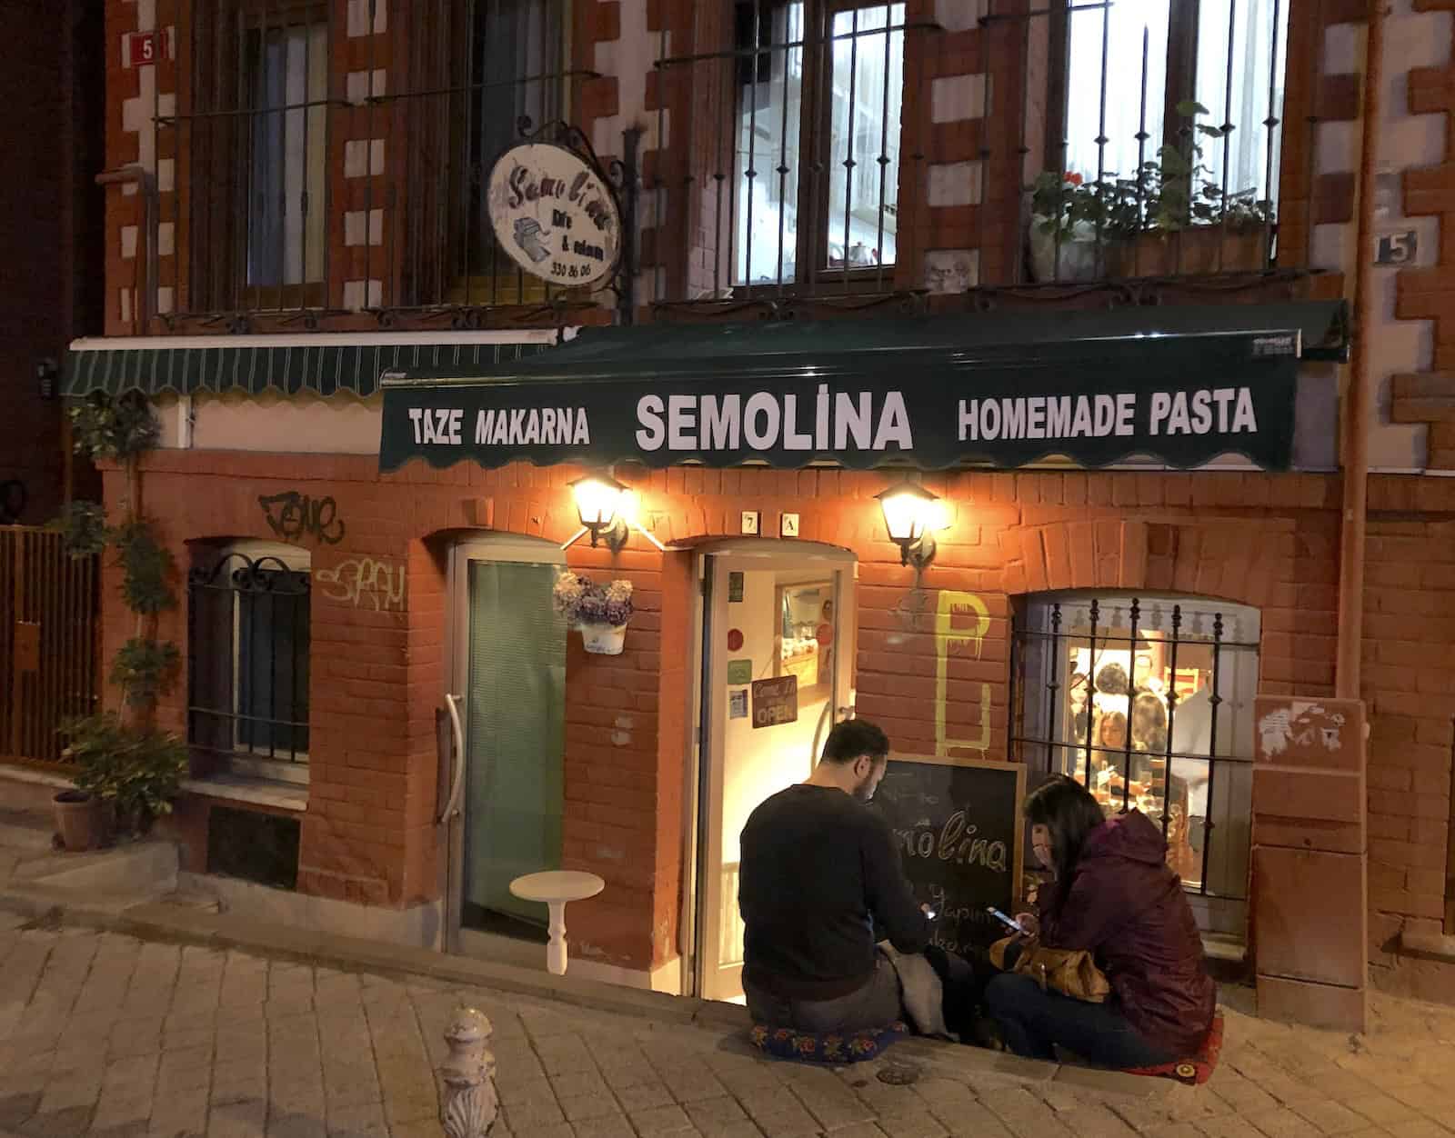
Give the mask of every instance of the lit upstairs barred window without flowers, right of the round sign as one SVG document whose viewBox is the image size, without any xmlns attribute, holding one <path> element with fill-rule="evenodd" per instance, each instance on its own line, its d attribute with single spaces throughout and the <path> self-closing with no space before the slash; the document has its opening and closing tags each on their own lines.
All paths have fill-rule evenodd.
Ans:
<svg viewBox="0 0 1455 1138">
<path fill-rule="evenodd" d="M 729 86 L 730 114 L 694 127 L 711 135 L 716 291 L 882 287 L 898 255 L 905 4 L 738 0 L 732 16 L 729 51 L 658 60 L 694 68 L 694 89 Z"/>
</svg>

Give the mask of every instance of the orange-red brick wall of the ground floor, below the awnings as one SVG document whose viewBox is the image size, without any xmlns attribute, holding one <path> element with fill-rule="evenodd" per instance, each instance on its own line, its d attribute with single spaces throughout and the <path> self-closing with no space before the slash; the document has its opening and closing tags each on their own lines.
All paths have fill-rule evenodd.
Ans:
<svg viewBox="0 0 1455 1138">
<path fill-rule="evenodd" d="M 444 687 L 442 550 L 453 530 L 489 518 L 499 533 L 565 540 L 576 528 L 567 467 L 409 470 L 378 477 L 368 458 L 159 453 L 144 469 L 150 511 L 179 560 L 186 541 L 271 537 L 259 495 L 295 489 L 332 496 L 346 534 L 310 544 L 313 570 L 359 559 L 402 566 L 404 600 L 372 611 L 314 589 L 311 786 L 300 889 L 383 905 L 436 896 L 434 710 Z M 631 477 L 630 474 L 627 477 Z M 953 661 L 944 733 L 1007 754 L 1008 616 L 1046 589 L 1103 588 L 1222 597 L 1261 610 L 1260 688 L 1333 693 L 1339 480 L 1279 474 L 953 474 L 927 479 L 954 511 L 924 575 L 928 604 L 905 605 L 914 570 L 882 530 L 885 479 L 841 471 L 668 470 L 631 477 L 643 515 L 665 543 L 691 547 L 736 536 L 741 509 L 765 528 L 800 514 L 802 540 L 860 559 L 860 715 L 905 752 L 933 752 L 940 589 L 981 598 L 979 650 Z M 108 479 L 112 495 L 119 474 Z M 1379 937 L 1404 921 L 1439 921 L 1449 818 L 1449 731 L 1455 691 L 1452 522 L 1406 515 L 1408 480 L 1375 480 L 1371 527 L 1366 699 L 1371 703 L 1371 872 Z M 1455 488 L 1424 483 L 1423 511 L 1455 512 Z M 163 505 L 164 504 L 164 505 Z M 661 554 L 642 538 L 613 557 L 572 547 L 576 569 L 608 570 L 636 586 L 639 616 L 621 656 L 567 658 L 566 829 L 570 867 L 608 882 L 573 915 L 573 937 L 604 959 L 649 968 L 678 950 L 681 806 L 690 752 L 685 629 L 695 581 L 690 552 Z M 119 610 L 108 652 L 129 634 Z M 163 634 L 185 642 L 185 614 Z M 985 704 L 985 694 L 989 704 Z M 183 693 L 163 709 L 182 728 Z M 630 731 L 620 732 L 620 717 Z M 988 731 L 988 735 L 985 733 Z M 629 735 L 623 741 L 623 735 Z M 962 748 L 966 749 L 966 748 Z M 1408 793 L 1408 792 L 1416 793 Z M 1379 944 L 1376 944 L 1376 949 Z M 1379 959 L 1376 956 L 1376 959 Z"/>
</svg>

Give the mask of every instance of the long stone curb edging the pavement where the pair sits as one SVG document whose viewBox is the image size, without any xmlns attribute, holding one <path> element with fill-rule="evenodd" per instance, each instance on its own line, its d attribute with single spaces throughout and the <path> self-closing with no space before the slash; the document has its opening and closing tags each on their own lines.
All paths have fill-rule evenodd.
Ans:
<svg viewBox="0 0 1455 1138">
<path fill-rule="evenodd" d="M 569 975 L 553 976 L 547 972 L 429 949 L 306 931 L 160 902 L 121 911 L 70 902 L 71 898 L 58 898 L 54 892 L 41 889 L 12 888 L 0 892 L 0 910 L 31 920 L 119 933 L 138 940 L 256 952 L 300 963 L 322 963 L 346 972 L 438 979 L 461 987 L 489 988 L 511 995 L 631 1016 L 672 1027 L 698 1027 L 720 1035 L 725 1040 L 742 1042 L 749 1026 L 746 1008 L 697 997 L 666 995 Z M 895 1043 L 889 1052 L 889 1062 L 906 1061 L 920 1067 L 922 1074 L 1008 1086 L 1059 1086 L 1075 1093 L 1123 1102 L 1129 1099 L 1157 1102 L 1165 1099 L 1177 1086 L 1160 1078 L 1037 1062 L 933 1039 L 904 1039 Z"/>
</svg>

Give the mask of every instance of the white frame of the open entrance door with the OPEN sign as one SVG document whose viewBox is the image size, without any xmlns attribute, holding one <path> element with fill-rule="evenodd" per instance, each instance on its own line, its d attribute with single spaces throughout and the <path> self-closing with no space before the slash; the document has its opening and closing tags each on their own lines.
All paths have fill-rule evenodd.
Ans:
<svg viewBox="0 0 1455 1138">
<path fill-rule="evenodd" d="M 719 848 L 722 843 L 725 716 L 719 704 L 726 699 L 728 658 L 725 652 L 713 653 L 709 648 L 711 642 L 720 639 L 717 633 L 726 627 L 726 575 L 733 569 L 793 570 L 816 566 L 822 566 L 825 573 L 834 576 L 837 589 L 834 633 L 837 656 L 834 691 L 828 701 L 832 717 L 837 719 L 853 712 L 857 697 L 854 665 L 858 621 L 854 585 L 858 579 L 858 559 L 856 554 L 837 546 L 765 538 L 720 541 L 697 553 L 698 592 L 693 621 L 693 751 L 684 795 L 687 800 L 684 818 L 687 880 L 681 911 L 682 943 L 687 947 L 682 953 L 684 994 L 703 994 L 706 962 L 716 959 L 716 950 L 709 953 L 707 944 L 719 931 L 717 918 L 709 904 L 716 895 L 716 885 L 707 880 L 707 863 L 710 850 Z M 722 582 L 722 588 L 716 586 L 717 581 Z"/>
</svg>

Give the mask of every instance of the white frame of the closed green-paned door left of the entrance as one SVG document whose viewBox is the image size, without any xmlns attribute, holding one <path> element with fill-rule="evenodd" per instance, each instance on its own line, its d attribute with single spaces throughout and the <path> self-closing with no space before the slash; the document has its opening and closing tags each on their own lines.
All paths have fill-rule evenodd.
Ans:
<svg viewBox="0 0 1455 1138">
<path fill-rule="evenodd" d="M 466 764 L 460 777 L 469 780 L 470 755 L 470 562 L 511 562 L 517 565 L 565 566 L 566 553 L 554 541 L 522 534 L 471 533 L 450 546 L 450 563 L 445 576 L 445 690 L 460 707 L 460 745 L 464 747 Z M 450 770 L 454 770 L 451 764 Z M 448 821 L 445 838 L 447 853 L 441 859 L 445 878 L 441 883 L 444 896 L 444 944 L 447 952 L 457 952 L 460 944 L 460 918 L 464 908 L 464 827 L 467 799 L 461 787 L 460 809 Z"/>
</svg>

